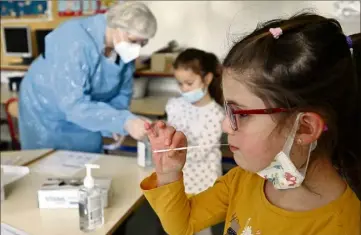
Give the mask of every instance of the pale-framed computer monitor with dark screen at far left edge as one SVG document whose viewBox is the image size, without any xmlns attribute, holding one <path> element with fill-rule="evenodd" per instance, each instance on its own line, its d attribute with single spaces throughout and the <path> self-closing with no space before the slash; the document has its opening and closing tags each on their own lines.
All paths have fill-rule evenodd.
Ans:
<svg viewBox="0 0 361 235">
<path fill-rule="evenodd" d="M 23 60 L 32 58 L 31 30 L 29 27 L 2 27 L 2 41 L 6 56 L 20 56 Z"/>
</svg>

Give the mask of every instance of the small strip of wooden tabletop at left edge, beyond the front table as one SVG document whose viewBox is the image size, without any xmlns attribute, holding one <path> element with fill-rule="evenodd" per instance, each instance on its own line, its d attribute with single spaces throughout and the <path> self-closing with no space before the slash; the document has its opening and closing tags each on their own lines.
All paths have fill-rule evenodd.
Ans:
<svg viewBox="0 0 361 235">
<path fill-rule="evenodd" d="M 52 149 L 2 151 L 0 152 L 1 164 L 25 166 L 52 152 Z M 9 164 L 12 162 L 13 164 Z"/>
</svg>

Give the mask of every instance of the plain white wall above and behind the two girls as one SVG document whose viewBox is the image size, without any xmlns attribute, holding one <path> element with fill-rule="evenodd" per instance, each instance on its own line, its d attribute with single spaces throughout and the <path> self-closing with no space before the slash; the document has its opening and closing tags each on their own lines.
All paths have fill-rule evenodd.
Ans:
<svg viewBox="0 0 361 235">
<path fill-rule="evenodd" d="M 170 40 L 208 50 L 221 58 L 232 39 L 252 31 L 259 21 L 290 16 L 304 8 L 335 17 L 336 1 L 144 1 L 158 20 L 154 39 L 143 55 L 165 46 Z M 360 16 L 341 20 L 346 34 L 360 32 Z"/>
</svg>

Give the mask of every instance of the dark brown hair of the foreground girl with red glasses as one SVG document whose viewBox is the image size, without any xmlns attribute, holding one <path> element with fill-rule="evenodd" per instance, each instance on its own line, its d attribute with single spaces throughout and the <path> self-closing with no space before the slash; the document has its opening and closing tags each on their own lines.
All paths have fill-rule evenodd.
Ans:
<svg viewBox="0 0 361 235">
<path fill-rule="evenodd" d="M 278 39 L 269 32 L 277 27 L 283 31 Z M 267 106 L 318 113 L 328 128 L 318 140 L 318 149 L 331 156 L 359 198 L 360 36 L 346 37 L 335 19 L 301 13 L 259 25 L 233 46 L 223 63 L 236 79 L 246 73 L 241 82 Z"/>
</svg>

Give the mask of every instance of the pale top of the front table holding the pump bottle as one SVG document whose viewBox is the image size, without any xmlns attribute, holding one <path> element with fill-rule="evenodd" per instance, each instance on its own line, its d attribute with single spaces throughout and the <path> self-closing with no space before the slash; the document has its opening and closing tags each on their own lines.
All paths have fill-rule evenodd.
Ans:
<svg viewBox="0 0 361 235">
<path fill-rule="evenodd" d="M 93 175 L 112 177 L 113 194 L 109 207 L 104 210 L 104 226 L 89 234 L 112 234 L 142 201 L 143 193 L 139 184 L 153 169 L 139 167 L 136 158 L 132 157 L 103 155 L 95 163 L 100 165 L 100 169 L 94 170 Z M 38 208 L 37 190 L 46 175 L 31 172 L 31 167 L 36 164 L 35 162 L 30 166 L 29 175 L 5 188 L 1 222 L 30 235 L 84 235 L 79 229 L 77 209 Z M 76 174 L 84 175 L 84 169 Z"/>
</svg>

